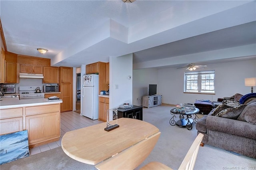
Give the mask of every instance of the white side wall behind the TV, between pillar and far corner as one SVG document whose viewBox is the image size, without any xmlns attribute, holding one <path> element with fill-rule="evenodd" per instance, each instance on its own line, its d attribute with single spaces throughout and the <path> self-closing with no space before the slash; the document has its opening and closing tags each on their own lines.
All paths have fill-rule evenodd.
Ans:
<svg viewBox="0 0 256 170">
<path fill-rule="evenodd" d="M 148 85 L 158 84 L 157 69 L 133 70 L 132 80 L 132 104 L 142 106 L 142 96 L 148 95 Z M 157 90 L 158 93 L 158 90 Z"/>
</svg>

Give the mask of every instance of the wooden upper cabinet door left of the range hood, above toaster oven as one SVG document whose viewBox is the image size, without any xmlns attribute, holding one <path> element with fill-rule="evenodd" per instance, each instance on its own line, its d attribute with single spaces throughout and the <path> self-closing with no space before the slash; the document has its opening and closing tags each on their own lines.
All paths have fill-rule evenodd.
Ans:
<svg viewBox="0 0 256 170">
<path fill-rule="evenodd" d="M 17 83 L 17 64 L 6 62 L 5 63 L 5 82 Z"/>
</svg>

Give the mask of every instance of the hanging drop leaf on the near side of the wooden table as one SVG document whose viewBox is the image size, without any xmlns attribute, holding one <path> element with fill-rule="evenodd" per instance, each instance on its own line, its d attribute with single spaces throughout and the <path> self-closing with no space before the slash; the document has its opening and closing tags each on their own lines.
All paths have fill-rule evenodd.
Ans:
<svg viewBox="0 0 256 170">
<path fill-rule="evenodd" d="M 138 142 L 130 148 L 113 155 L 112 158 L 97 164 L 98 170 L 133 170 L 138 167 L 153 150 L 161 132 Z"/>
</svg>

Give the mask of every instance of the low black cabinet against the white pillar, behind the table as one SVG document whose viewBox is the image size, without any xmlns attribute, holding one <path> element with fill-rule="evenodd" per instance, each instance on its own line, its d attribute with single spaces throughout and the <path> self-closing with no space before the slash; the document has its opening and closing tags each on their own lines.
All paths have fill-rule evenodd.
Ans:
<svg viewBox="0 0 256 170">
<path fill-rule="evenodd" d="M 128 109 L 118 108 L 117 117 L 132 118 L 143 121 L 142 106 L 133 106 L 132 108 Z"/>
</svg>

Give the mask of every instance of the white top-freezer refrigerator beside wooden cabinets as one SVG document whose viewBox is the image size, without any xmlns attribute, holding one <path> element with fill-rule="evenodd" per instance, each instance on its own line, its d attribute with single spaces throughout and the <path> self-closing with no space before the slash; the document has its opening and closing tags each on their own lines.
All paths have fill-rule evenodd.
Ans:
<svg viewBox="0 0 256 170">
<path fill-rule="evenodd" d="M 88 74 L 82 77 L 81 113 L 92 120 L 99 118 L 99 75 Z"/>
</svg>

